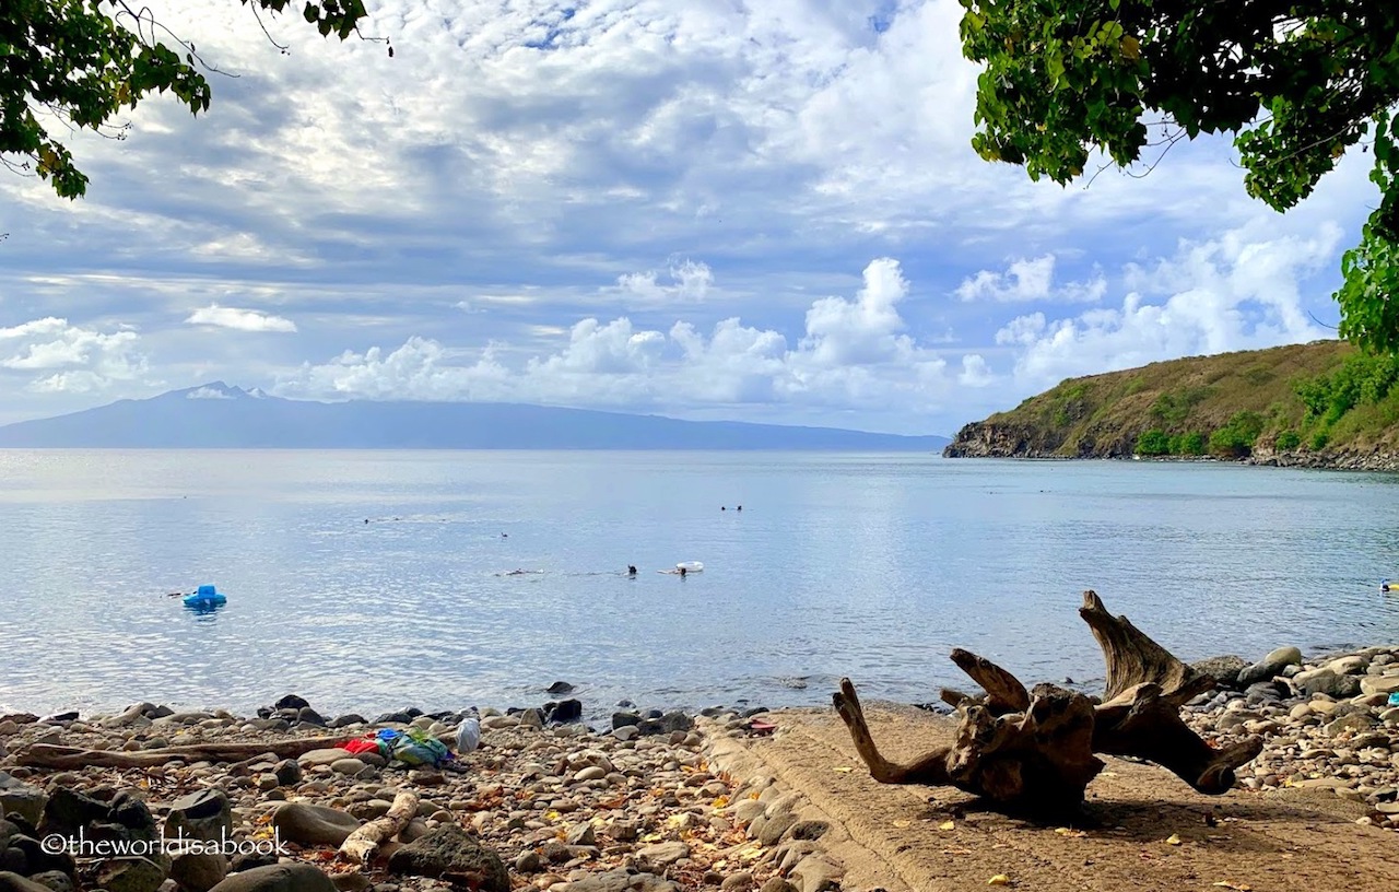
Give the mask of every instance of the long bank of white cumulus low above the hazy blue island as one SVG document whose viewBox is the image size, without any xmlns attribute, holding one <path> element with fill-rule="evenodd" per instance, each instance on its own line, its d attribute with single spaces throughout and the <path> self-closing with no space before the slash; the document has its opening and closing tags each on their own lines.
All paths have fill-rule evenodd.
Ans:
<svg viewBox="0 0 1399 892">
<path fill-rule="evenodd" d="M 853 298 L 825 296 L 810 305 L 795 345 L 739 317 L 708 333 L 688 322 L 663 331 L 625 316 L 583 319 L 557 352 L 513 368 L 498 358 L 498 345 L 471 361 L 470 351 L 413 337 L 388 355 L 371 348 L 308 364 L 287 376 L 278 393 L 632 408 L 772 401 L 849 408 L 897 397 L 902 405 L 926 407 L 944 400 L 956 380 L 935 350 L 904 333 L 897 305 L 908 288 L 895 260 L 872 261 Z M 979 357 L 964 361 L 963 371 L 975 379 L 986 372 Z"/>
</svg>

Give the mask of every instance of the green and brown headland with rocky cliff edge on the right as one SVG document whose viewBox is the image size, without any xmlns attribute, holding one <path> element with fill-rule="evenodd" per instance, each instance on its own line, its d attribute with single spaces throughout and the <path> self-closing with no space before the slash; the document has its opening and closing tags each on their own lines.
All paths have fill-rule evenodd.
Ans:
<svg viewBox="0 0 1399 892">
<path fill-rule="evenodd" d="M 947 457 L 1221 459 L 1399 470 L 1399 359 L 1314 341 L 1062 382 L 961 431 Z"/>
</svg>

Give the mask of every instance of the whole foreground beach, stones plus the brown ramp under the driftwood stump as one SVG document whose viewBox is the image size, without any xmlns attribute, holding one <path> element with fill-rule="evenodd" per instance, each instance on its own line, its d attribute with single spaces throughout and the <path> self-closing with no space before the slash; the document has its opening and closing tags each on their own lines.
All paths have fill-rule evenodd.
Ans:
<svg viewBox="0 0 1399 892">
<path fill-rule="evenodd" d="M 1084 875 L 1108 884 L 1063 888 L 1112 888 L 1112 871 L 1130 868 L 1129 857 L 1174 867 L 1193 854 L 1202 860 L 1189 875 L 1263 875 L 1267 868 L 1221 850 L 1249 822 L 1258 833 L 1284 826 L 1279 864 L 1305 872 L 1309 856 L 1290 836 L 1294 819 L 1315 829 L 1323 818 L 1332 835 L 1375 835 L 1342 840 L 1353 850 L 1391 851 L 1399 707 L 1389 695 L 1399 691 L 1399 647 L 1305 660 L 1284 647 L 1256 663 L 1217 657 L 1195 668 L 1217 688 L 1186 706 L 1188 723 L 1216 747 L 1260 735 L 1263 752 L 1217 798 L 1153 766 L 1109 759 L 1107 780 L 1090 787 L 1081 828 L 985 812 L 956 790 L 929 797 L 923 787 L 874 784 L 823 709 L 691 716 L 620 707 L 611 727 L 590 727 L 578 721 L 576 700 L 367 720 L 323 717 L 287 696 L 248 717 L 152 703 L 113 716 L 3 716 L 0 892 L 1060 888 L 1051 882 L 1062 872 L 1059 857 L 1079 858 L 1079 872 L 1095 864 Z M 895 745 L 900 735 L 946 734 L 951 724 L 907 706 L 872 716 Z M 343 747 L 382 728 L 455 741 L 471 719 L 480 745 L 436 766 Z M 250 755 L 200 756 L 232 751 Z M 122 765 L 130 758 L 141 765 Z M 1316 796 L 1336 805 L 1318 805 Z M 1196 811 L 1205 815 L 1199 832 L 1164 839 Z M 347 837 L 386 822 L 389 836 L 347 857 Z M 115 849 L 94 850 L 102 840 Z M 173 844 L 182 840 L 221 847 Z M 1072 840 L 1105 850 L 1081 861 Z M 1060 856 L 1055 846 L 1070 849 Z M 1046 879 L 1031 882 L 1031 868 L 1011 858 L 1018 847 L 1038 853 Z M 1399 877 L 1391 856 L 1375 857 L 1371 872 Z"/>
</svg>

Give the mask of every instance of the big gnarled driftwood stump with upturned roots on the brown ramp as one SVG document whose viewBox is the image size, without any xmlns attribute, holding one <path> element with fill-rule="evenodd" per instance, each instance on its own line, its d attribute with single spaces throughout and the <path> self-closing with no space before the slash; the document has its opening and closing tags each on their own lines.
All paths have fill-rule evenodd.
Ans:
<svg viewBox="0 0 1399 892">
<path fill-rule="evenodd" d="M 1094 591 L 1083 593 L 1079 615 L 1107 660 L 1101 699 L 1051 684 L 1025 691 L 1014 675 L 965 650 L 956 663 L 985 695 L 944 689 L 960 720 L 951 745 L 908 763 L 880 755 L 849 678 L 832 696 L 855 748 L 880 783 L 951 786 L 1027 811 L 1081 807 L 1084 789 L 1104 763 L 1094 754 L 1137 756 L 1170 769 L 1207 794 L 1234 786 L 1234 769 L 1256 756 L 1260 738 L 1214 749 L 1181 719 L 1181 706 L 1207 691 L 1200 675 L 1133 626 L 1114 617 Z"/>
</svg>

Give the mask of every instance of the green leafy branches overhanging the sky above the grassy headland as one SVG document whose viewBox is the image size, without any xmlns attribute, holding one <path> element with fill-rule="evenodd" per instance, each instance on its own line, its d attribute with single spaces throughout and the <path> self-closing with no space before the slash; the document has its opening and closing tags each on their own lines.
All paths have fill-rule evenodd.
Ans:
<svg viewBox="0 0 1399 892">
<path fill-rule="evenodd" d="M 1342 260 L 1340 334 L 1399 351 L 1399 3 L 961 4 L 963 52 L 986 66 L 972 147 L 1035 180 L 1067 183 L 1094 151 L 1128 168 L 1147 150 L 1233 133 L 1248 194 L 1284 211 L 1368 134 L 1382 197 Z"/>
</svg>

